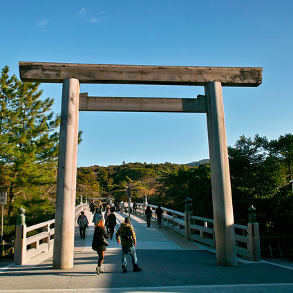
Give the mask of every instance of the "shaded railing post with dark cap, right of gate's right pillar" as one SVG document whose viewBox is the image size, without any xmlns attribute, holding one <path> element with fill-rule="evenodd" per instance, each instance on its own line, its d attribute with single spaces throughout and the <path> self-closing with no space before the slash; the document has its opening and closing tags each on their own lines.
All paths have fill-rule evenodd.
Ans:
<svg viewBox="0 0 293 293">
<path fill-rule="evenodd" d="M 248 247 L 249 261 L 261 261 L 261 243 L 259 238 L 258 223 L 256 222 L 255 207 L 248 209 Z"/>
</svg>

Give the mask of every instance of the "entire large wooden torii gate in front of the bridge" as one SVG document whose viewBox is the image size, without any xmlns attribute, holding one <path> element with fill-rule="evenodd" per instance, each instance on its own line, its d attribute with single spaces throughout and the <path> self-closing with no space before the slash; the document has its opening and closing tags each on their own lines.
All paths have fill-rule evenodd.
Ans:
<svg viewBox="0 0 293 293">
<path fill-rule="evenodd" d="M 19 62 L 23 82 L 63 83 L 53 267 L 73 267 L 78 111 L 207 113 L 218 265 L 236 266 L 234 216 L 222 86 L 259 86 L 262 68 Z M 198 98 L 88 97 L 85 84 L 205 86 Z"/>
</svg>

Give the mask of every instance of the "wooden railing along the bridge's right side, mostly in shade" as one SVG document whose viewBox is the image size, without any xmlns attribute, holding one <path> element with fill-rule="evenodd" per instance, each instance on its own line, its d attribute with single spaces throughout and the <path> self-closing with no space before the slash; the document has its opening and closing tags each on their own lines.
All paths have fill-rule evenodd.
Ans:
<svg viewBox="0 0 293 293">
<path fill-rule="evenodd" d="M 151 218 L 156 220 L 156 205 L 149 205 L 153 214 Z M 136 212 L 140 216 L 145 216 L 147 205 L 137 204 Z M 216 247 L 214 235 L 214 220 L 198 216 L 190 216 L 188 212 L 173 211 L 162 207 L 162 225 L 172 231 L 185 236 L 188 240 L 193 240 L 209 247 Z M 243 256 L 250 261 L 261 261 L 261 249 L 259 242 L 258 223 L 252 221 L 247 226 L 234 225 L 236 238 L 236 252 L 238 256 Z"/>
</svg>

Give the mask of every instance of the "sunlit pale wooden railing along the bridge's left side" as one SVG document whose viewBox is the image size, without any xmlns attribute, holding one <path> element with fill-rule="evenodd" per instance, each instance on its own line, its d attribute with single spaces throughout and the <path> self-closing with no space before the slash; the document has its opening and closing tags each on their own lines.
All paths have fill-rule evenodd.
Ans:
<svg viewBox="0 0 293 293">
<path fill-rule="evenodd" d="M 88 211 L 88 202 L 75 207 L 75 223 L 80 211 Z M 33 257 L 53 249 L 55 219 L 26 227 L 25 210 L 19 209 L 15 232 L 15 265 L 25 265 Z M 33 234 L 32 236 L 28 236 Z"/>
</svg>

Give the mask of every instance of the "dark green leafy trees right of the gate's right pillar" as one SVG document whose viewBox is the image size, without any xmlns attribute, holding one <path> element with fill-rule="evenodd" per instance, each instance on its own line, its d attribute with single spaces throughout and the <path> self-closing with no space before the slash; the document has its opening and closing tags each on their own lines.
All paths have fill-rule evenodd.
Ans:
<svg viewBox="0 0 293 293">
<path fill-rule="evenodd" d="M 280 233 L 292 229 L 292 143 L 292 135 L 272 141 L 242 135 L 234 148 L 228 148 L 236 223 L 247 223 L 247 209 L 254 205 L 262 231 L 269 226 Z"/>
</svg>

